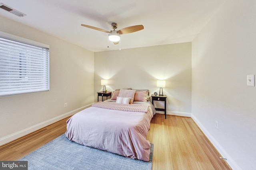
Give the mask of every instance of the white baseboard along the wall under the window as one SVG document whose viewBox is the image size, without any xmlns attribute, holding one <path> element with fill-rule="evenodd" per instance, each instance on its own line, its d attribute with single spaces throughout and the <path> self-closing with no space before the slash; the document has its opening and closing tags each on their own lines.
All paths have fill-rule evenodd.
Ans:
<svg viewBox="0 0 256 170">
<path fill-rule="evenodd" d="M 42 122 L 42 123 L 38 123 L 37 125 L 34 125 L 34 126 L 32 126 L 32 127 L 28 127 L 28 128 L 23 129 L 23 130 L 21 130 L 21 131 L 18 131 L 18 132 L 16 132 L 16 133 L 13 133 L 13 134 L 11 134 L 11 135 L 8 135 L 8 136 L 6 136 L 6 137 L 3 137 L 3 138 L 0 139 L 0 146 L 1 146 L 1 145 L 4 145 L 4 144 L 6 144 L 6 143 L 8 143 L 8 142 L 10 142 L 10 141 L 13 141 L 13 140 L 15 140 L 15 139 L 18 139 L 18 138 L 20 138 L 20 137 L 22 137 L 22 136 L 24 136 L 24 135 L 27 135 L 27 134 L 29 134 L 29 133 L 31 133 L 31 132 L 34 132 L 34 131 L 36 131 L 36 130 L 38 130 L 38 129 L 41 129 L 42 127 L 46 127 L 47 125 L 50 125 L 50 124 L 52 124 L 52 123 L 54 123 L 54 122 L 56 122 L 56 121 L 59 121 L 59 120 L 61 120 L 61 119 L 64 119 L 64 118 L 66 118 L 66 117 L 68 117 L 68 116 L 70 116 L 70 115 L 73 115 L 74 113 L 76 113 L 76 111 L 78 111 L 78 110 L 80 110 L 80 109 L 85 109 L 86 107 L 90 107 L 91 105 L 92 105 L 92 104 L 89 104 L 89 105 L 80 107 L 80 108 L 78 108 L 78 109 L 69 111 L 68 113 L 64 113 L 63 115 L 59 115 L 59 116 L 57 116 L 57 117 L 54 117 L 54 118 L 49 119 L 49 120 L 47 120 L 47 121 L 44 121 L 44 122 Z"/>
</svg>

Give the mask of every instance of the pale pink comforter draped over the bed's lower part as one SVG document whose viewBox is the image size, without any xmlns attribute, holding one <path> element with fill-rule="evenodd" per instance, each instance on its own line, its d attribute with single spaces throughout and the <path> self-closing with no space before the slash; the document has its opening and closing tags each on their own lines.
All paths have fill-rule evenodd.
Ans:
<svg viewBox="0 0 256 170">
<path fill-rule="evenodd" d="M 152 117 L 150 106 L 147 113 L 89 107 L 66 121 L 65 135 L 70 141 L 88 147 L 149 161 L 150 143 L 146 135 Z"/>
</svg>

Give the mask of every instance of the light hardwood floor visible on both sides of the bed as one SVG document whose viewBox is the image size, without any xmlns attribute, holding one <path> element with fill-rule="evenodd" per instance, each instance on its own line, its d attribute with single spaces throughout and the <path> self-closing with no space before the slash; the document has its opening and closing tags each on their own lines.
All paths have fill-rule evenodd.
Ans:
<svg viewBox="0 0 256 170">
<path fill-rule="evenodd" d="M 0 160 L 18 160 L 62 135 L 66 119 L 0 146 Z M 156 114 L 147 139 L 154 144 L 152 170 L 230 170 L 190 117 Z"/>
</svg>

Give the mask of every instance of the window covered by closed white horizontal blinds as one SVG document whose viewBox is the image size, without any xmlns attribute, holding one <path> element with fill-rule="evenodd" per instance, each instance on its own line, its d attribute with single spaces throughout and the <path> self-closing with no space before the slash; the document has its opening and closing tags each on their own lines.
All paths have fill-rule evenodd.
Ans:
<svg viewBox="0 0 256 170">
<path fill-rule="evenodd" d="M 49 46 L 0 32 L 0 96 L 49 90 Z"/>
</svg>

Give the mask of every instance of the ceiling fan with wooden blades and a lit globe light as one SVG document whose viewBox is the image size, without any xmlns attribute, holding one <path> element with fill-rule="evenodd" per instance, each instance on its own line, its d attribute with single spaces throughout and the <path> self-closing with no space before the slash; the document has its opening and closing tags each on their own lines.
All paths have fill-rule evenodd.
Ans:
<svg viewBox="0 0 256 170">
<path fill-rule="evenodd" d="M 81 24 L 81 25 L 84 26 L 84 27 L 88 27 L 88 28 L 91 28 L 91 29 L 96 29 L 98 31 L 109 33 L 108 34 L 108 39 L 110 41 L 112 41 L 114 44 L 119 43 L 121 34 L 133 33 L 133 32 L 140 31 L 140 30 L 144 29 L 143 25 L 134 25 L 134 26 L 126 27 L 126 28 L 123 28 L 123 29 L 120 29 L 120 30 L 116 31 L 117 23 L 114 23 L 114 22 L 111 23 L 111 26 L 114 29 L 112 31 L 107 31 L 105 29 L 93 27 L 93 26 L 90 26 L 90 25 L 84 25 L 84 24 Z"/>
</svg>

